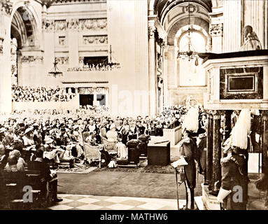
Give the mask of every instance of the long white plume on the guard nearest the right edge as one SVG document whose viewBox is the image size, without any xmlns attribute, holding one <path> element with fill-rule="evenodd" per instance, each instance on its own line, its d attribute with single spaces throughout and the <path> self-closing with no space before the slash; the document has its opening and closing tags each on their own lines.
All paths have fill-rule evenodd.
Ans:
<svg viewBox="0 0 268 224">
<path fill-rule="evenodd" d="M 251 132 L 251 111 L 243 109 L 239 114 L 237 123 L 232 129 L 232 146 L 241 149 L 248 148 L 248 134 Z"/>
</svg>

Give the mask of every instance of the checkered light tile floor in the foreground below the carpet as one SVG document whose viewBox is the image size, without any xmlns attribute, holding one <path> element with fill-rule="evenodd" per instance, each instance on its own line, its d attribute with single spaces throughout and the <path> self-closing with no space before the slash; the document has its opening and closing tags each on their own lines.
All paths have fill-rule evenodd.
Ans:
<svg viewBox="0 0 268 224">
<path fill-rule="evenodd" d="M 63 199 L 52 210 L 177 210 L 177 201 L 145 197 L 58 195 Z M 180 208 L 185 200 L 179 200 Z"/>
</svg>

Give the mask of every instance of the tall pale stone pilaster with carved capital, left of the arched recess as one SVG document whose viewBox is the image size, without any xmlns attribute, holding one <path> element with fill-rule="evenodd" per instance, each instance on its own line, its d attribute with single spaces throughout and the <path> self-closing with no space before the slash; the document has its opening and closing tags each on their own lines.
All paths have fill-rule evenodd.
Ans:
<svg viewBox="0 0 268 224">
<path fill-rule="evenodd" d="M 156 78 L 156 67 L 155 67 L 155 18 L 150 18 L 148 21 L 148 48 L 149 48 L 149 106 L 150 106 L 150 116 L 155 116 L 157 104 L 156 104 L 156 88 L 157 88 L 157 78 Z"/>
</svg>

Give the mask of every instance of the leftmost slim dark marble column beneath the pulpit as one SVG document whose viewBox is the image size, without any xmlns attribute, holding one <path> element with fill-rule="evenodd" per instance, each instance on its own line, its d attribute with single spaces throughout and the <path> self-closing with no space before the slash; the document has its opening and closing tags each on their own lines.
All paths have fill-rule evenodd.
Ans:
<svg viewBox="0 0 268 224">
<path fill-rule="evenodd" d="M 206 139 L 206 184 L 209 184 L 209 190 L 212 190 L 212 172 L 213 172 L 213 148 L 212 148 L 212 138 L 213 138 L 213 116 L 211 111 L 207 113 L 208 124 L 207 124 L 207 134 Z"/>
</svg>

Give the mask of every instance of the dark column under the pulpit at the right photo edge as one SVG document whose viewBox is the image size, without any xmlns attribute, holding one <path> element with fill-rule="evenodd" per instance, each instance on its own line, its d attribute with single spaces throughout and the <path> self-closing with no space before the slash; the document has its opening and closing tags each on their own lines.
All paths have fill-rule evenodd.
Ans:
<svg viewBox="0 0 268 224">
<path fill-rule="evenodd" d="M 263 111 L 262 173 L 268 169 L 268 111 Z"/>
</svg>

